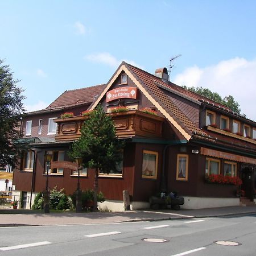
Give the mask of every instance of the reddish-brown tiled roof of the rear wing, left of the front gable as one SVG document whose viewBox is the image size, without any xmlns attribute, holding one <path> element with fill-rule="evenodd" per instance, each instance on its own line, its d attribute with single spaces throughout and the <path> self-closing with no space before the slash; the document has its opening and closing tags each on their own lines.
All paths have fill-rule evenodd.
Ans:
<svg viewBox="0 0 256 256">
<path fill-rule="evenodd" d="M 65 90 L 65 92 L 56 98 L 46 109 L 67 108 L 69 106 L 90 104 L 100 95 L 105 86 L 105 84 L 101 84 L 81 89 Z"/>
</svg>

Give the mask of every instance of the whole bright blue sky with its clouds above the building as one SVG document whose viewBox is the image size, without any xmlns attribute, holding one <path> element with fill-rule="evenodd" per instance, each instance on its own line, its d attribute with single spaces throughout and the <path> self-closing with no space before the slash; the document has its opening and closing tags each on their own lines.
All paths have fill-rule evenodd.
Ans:
<svg viewBox="0 0 256 256">
<path fill-rule="evenodd" d="M 231 94 L 256 121 L 256 1 L 0 1 L 0 59 L 43 109 L 65 90 L 108 82 L 122 60 Z"/>
</svg>

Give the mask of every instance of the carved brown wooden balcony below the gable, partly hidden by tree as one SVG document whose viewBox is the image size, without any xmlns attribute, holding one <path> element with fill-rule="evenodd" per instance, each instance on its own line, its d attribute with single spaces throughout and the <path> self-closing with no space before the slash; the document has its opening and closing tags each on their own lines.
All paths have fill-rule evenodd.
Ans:
<svg viewBox="0 0 256 256">
<path fill-rule="evenodd" d="M 162 138 L 164 118 L 147 114 L 138 110 L 108 113 L 112 117 L 118 138 L 143 137 Z M 56 141 L 73 141 L 80 137 L 80 129 L 85 119 L 81 115 L 76 117 L 58 118 Z"/>
</svg>

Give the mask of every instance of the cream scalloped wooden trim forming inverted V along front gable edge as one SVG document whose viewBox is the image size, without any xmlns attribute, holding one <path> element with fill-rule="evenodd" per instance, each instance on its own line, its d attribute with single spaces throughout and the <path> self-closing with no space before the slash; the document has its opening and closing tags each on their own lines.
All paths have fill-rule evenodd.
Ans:
<svg viewBox="0 0 256 256">
<path fill-rule="evenodd" d="M 104 97 L 106 92 L 108 92 L 110 86 L 112 86 L 113 82 L 117 79 L 117 77 L 120 75 L 122 71 L 125 71 L 127 76 L 130 77 L 131 81 L 134 82 L 134 84 L 141 90 L 141 92 L 146 96 L 146 98 L 151 101 L 151 103 L 159 110 L 160 113 L 164 115 L 172 123 L 172 125 L 175 126 L 175 128 L 189 141 L 191 139 L 191 135 L 189 135 L 175 120 L 171 117 L 169 113 L 150 95 L 150 93 L 147 92 L 146 89 L 143 88 L 143 86 L 138 82 L 137 79 L 133 76 L 133 74 L 125 67 L 125 64 L 123 64 L 118 70 L 117 73 L 112 77 L 112 80 L 108 83 L 108 85 L 105 87 L 104 91 L 101 93 L 101 95 L 97 98 L 97 100 L 94 102 L 94 104 L 90 107 L 90 110 L 93 110 L 96 108 L 98 103 L 101 101 L 101 99 Z"/>
</svg>

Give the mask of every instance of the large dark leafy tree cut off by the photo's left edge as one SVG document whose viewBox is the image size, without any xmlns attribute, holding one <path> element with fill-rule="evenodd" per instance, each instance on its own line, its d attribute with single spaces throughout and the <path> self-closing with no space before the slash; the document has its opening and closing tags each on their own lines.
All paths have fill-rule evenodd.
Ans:
<svg viewBox="0 0 256 256">
<path fill-rule="evenodd" d="M 20 137 L 20 121 L 24 114 L 23 90 L 16 86 L 9 65 L 0 59 L 0 166 L 13 165 L 19 153 L 19 145 L 13 143 Z"/>
</svg>

